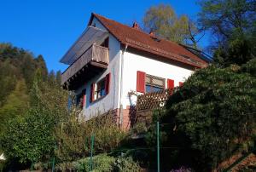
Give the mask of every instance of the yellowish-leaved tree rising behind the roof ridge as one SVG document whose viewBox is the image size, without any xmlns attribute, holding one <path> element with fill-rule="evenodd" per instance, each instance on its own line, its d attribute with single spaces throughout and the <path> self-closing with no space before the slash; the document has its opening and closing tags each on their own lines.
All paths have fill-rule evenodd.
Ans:
<svg viewBox="0 0 256 172">
<path fill-rule="evenodd" d="M 160 37 L 165 37 L 176 43 L 186 43 L 196 48 L 196 35 L 199 29 L 188 16 L 177 16 L 169 4 L 153 6 L 143 17 L 146 30 L 155 32 Z"/>
</svg>

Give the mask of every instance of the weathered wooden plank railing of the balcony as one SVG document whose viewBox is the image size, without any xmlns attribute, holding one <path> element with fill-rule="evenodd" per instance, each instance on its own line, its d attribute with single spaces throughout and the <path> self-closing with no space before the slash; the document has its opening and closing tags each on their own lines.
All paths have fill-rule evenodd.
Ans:
<svg viewBox="0 0 256 172">
<path fill-rule="evenodd" d="M 108 65 L 108 48 L 93 44 L 87 49 L 79 59 L 75 60 L 61 75 L 61 84 L 66 83 L 90 61 Z"/>
</svg>

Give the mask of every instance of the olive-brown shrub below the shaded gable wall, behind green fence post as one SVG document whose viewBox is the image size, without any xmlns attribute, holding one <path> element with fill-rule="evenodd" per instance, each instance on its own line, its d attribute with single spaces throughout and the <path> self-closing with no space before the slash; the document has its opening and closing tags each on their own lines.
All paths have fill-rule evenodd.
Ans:
<svg viewBox="0 0 256 172">
<path fill-rule="evenodd" d="M 79 122 L 74 111 L 67 123 L 62 123 L 55 132 L 56 140 L 59 142 L 59 149 L 56 152 L 59 161 L 72 161 L 88 156 L 91 135 L 95 135 L 96 152 L 109 152 L 120 145 L 126 134 L 108 115 Z"/>
</svg>

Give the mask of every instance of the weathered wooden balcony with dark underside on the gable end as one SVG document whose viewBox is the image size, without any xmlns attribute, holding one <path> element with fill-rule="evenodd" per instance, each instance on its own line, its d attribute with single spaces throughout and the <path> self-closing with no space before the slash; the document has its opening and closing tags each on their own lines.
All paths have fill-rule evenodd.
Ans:
<svg viewBox="0 0 256 172">
<path fill-rule="evenodd" d="M 64 89 L 76 89 L 108 67 L 108 48 L 93 44 L 61 75 Z"/>
</svg>

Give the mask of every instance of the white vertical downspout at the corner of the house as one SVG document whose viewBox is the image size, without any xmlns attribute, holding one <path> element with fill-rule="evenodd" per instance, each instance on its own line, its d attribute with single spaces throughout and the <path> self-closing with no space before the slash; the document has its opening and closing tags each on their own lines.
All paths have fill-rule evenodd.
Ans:
<svg viewBox="0 0 256 172">
<path fill-rule="evenodd" d="M 119 127 L 123 124 L 123 72 L 124 72 L 124 54 L 128 48 L 128 44 L 125 43 L 125 49 L 122 51 L 120 56 L 120 96 L 119 96 Z"/>
</svg>

